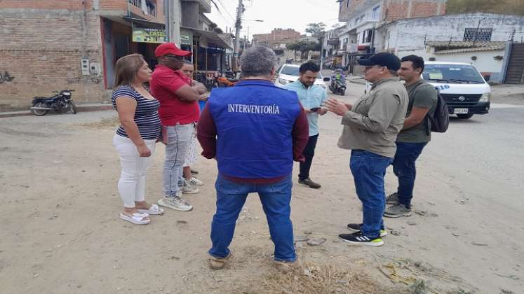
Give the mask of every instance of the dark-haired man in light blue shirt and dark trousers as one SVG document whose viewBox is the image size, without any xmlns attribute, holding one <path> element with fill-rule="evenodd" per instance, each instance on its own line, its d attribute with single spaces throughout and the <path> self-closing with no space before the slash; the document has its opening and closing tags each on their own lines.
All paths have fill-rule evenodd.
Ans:
<svg viewBox="0 0 524 294">
<path fill-rule="evenodd" d="M 300 162 L 298 183 L 315 189 L 321 188 L 321 186 L 309 179 L 309 169 L 311 169 L 318 139 L 318 116 L 323 116 L 328 112 L 327 109 L 321 107 L 328 95 L 323 87 L 314 84 L 319 71 L 320 67 L 318 64 L 306 62 L 300 66 L 298 80 L 284 86 L 285 89 L 297 92 L 298 99 L 307 113 L 307 121 L 309 123 L 309 140 L 302 153 L 306 160 L 305 162 Z"/>
</svg>

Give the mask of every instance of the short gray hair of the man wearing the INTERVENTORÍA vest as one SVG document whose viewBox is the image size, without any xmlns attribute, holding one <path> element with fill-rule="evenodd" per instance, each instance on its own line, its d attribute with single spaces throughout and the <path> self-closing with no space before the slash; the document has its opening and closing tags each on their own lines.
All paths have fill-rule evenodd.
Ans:
<svg viewBox="0 0 524 294">
<path fill-rule="evenodd" d="M 276 64 L 276 55 L 271 48 L 256 45 L 244 50 L 240 57 L 242 76 L 267 76 Z"/>
</svg>

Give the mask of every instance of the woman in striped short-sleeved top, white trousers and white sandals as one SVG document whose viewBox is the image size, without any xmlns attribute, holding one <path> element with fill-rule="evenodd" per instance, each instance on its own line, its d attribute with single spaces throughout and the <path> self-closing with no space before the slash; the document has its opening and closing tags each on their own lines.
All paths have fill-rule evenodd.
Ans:
<svg viewBox="0 0 524 294">
<path fill-rule="evenodd" d="M 120 218 L 137 225 L 147 225 L 150 214 L 163 214 L 163 209 L 145 201 L 146 171 L 161 132 L 160 104 L 144 87 L 151 80 L 151 73 L 140 54 L 127 55 L 116 62 L 117 88 L 112 102 L 121 125 L 113 137 L 113 145 L 121 163 Z"/>
</svg>

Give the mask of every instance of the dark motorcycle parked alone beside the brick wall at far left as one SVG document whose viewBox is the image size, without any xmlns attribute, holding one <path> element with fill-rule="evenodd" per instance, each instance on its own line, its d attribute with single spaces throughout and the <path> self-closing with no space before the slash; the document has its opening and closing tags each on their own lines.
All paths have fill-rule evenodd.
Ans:
<svg viewBox="0 0 524 294">
<path fill-rule="evenodd" d="M 76 113 L 76 105 L 72 100 L 74 90 L 53 91 L 53 97 L 34 97 L 31 111 L 35 116 L 45 116 L 48 111 L 71 111 Z"/>
</svg>

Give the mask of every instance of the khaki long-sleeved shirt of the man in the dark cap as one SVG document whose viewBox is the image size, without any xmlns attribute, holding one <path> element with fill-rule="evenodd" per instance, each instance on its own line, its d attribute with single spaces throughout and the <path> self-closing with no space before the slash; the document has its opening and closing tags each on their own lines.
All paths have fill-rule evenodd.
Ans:
<svg viewBox="0 0 524 294">
<path fill-rule="evenodd" d="M 404 125 L 408 92 L 398 78 L 373 83 L 370 92 L 342 116 L 338 146 L 394 158 L 396 136 Z"/>
</svg>

